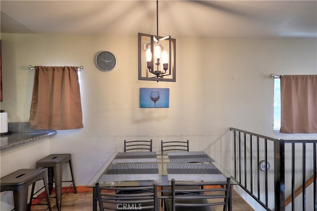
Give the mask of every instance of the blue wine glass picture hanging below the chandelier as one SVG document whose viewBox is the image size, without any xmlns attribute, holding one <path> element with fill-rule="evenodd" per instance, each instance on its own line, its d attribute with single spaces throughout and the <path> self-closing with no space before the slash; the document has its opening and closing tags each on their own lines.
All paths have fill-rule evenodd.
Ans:
<svg viewBox="0 0 317 211">
<path fill-rule="evenodd" d="M 140 88 L 140 107 L 169 107 L 169 89 Z"/>
</svg>

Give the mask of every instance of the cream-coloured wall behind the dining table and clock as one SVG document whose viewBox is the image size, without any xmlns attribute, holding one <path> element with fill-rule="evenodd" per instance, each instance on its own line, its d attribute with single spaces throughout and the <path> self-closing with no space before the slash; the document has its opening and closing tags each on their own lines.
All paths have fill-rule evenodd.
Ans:
<svg viewBox="0 0 317 211">
<path fill-rule="evenodd" d="M 71 153 L 77 185 L 89 178 L 123 139 L 190 139 L 227 168 L 229 127 L 276 138 L 316 139 L 316 134 L 274 133 L 275 74 L 317 74 L 316 39 L 239 40 L 176 38 L 177 79 L 138 80 L 137 35 L 133 37 L 1 34 L 3 102 L 9 122 L 26 122 L 33 70 L 28 65 L 83 65 L 80 72 L 84 128 L 58 131 L 50 153 Z M 114 53 L 111 72 L 95 66 L 95 55 Z M 169 88 L 169 108 L 140 108 L 139 89 Z M 1 163 L 2 169 L 2 163 Z"/>
</svg>

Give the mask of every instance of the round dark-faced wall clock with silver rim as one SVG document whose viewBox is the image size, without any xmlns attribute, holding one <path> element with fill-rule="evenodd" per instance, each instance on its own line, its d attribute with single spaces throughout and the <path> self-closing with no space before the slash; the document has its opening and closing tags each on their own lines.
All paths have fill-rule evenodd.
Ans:
<svg viewBox="0 0 317 211">
<path fill-rule="evenodd" d="M 102 71 L 111 71 L 117 64 L 117 60 L 113 53 L 102 51 L 96 56 L 96 65 Z"/>
</svg>

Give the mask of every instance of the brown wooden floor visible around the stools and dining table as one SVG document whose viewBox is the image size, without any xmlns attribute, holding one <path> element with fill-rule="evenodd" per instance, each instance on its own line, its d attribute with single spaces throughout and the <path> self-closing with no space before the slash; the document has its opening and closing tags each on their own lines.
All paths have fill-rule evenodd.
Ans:
<svg viewBox="0 0 317 211">
<path fill-rule="evenodd" d="M 92 192 L 65 193 L 62 195 L 62 211 L 92 211 Z M 57 211 L 55 199 L 51 199 L 52 210 Z M 232 192 L 232 211 L 254 211 L 234 190 Z M 42 206 L 33 206 L 33 211 L 45 211 Z M 99 210 L 99 209 L 98 209 Z M 163 208 L 160 211 L 164 211 Z M 222 211 L 222 208 L 214 208 L 213 211 Z"/>
</svg>

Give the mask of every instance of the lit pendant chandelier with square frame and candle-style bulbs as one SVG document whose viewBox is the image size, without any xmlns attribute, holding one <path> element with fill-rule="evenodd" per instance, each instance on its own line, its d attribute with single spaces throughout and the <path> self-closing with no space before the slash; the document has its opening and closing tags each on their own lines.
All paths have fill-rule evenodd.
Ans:
<svg viewBox="0 0 317 211">
<path fill-rule="evenodd" d="M 176 81 L 176 40 L 159 36 L 159 1 L 157 0 L 157 35 L 138 34 L 139 80 Z"/>
</svg>

